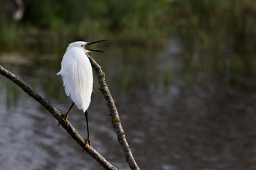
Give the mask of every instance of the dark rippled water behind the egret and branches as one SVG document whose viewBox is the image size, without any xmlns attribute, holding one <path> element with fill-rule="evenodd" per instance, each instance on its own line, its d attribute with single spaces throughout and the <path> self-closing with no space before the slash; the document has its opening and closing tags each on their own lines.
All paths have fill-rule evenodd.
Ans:
<svg viewBox="0 0 256 170">
<path fill-rule="evenodd" d="M 253 55 L 228 47 L 209 53 L 187 48 L 178 38 L 161 50 L 122 46 L 109 51 L 92 57 L 107 75 L 141 169 L 256 169 Z M 62 55 L 1 53 L 0 61 L 65 112 L 72 101 L 55 76 Z M 92 146 L 118 169 L 129 169 L 98 87 L 95 79 L 89 108 Z M 102 169 L 11 81 L 0 77 L 0 88 L 0 169 Z M 83 113 L 74 108 L 68 119 L 85 137 Z"/>
</svg>

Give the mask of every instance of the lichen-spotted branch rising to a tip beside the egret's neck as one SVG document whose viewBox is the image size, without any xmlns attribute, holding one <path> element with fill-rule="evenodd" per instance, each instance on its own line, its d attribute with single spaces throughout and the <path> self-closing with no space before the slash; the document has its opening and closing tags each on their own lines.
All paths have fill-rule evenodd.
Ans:
<svg viewBox="0 0 256 170">
<path fill-rule="evenodd" d="M 137 163 L 135 162 L 135 159 L 132 156 L 131 148 L 129 147 L 128 142 L 125 138 L 124 130 L 122 128 L 121 121 L 119 119 L 119 115 L 117 112 L 117 107 L 114 104 L 114 99 L 112 98 L 110 90 L 108 89 L 107 83 L 105 81 L 105 73 L 102 72 L 102 68 L 100 67 L 100 65 L 97 64 L 97 62 L 95 62 L 95 60 L 93 60 L 93 58 L 90 57 L 90 55 L 87 54 L 87 57 L 89 58 L 92 64 L 92 68 L 95 69 L 95 72 L 97 73 L 97 78 L 100 84 L 100 90 L 102 91 L 102 94 L 107 101 L 107 106 L 110 109 L 112 125 L 114 127 L 115 132 L 117 133 L 117 138 L 124 152 L 124 157 L 132 170 L 139 170 L 139 166 L 137 166 Z"/>
</svg>

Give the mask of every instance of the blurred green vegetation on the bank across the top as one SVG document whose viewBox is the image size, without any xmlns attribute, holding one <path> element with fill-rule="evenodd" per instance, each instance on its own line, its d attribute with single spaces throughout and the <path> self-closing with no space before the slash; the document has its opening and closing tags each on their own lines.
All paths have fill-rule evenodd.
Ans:
<svg viewBox="0 0 256 170">
<path fill-rule="evenodd" d="M 222 50 L 228 41 L 235 50 L 255 51 L 253 0 L 23 0 L 23 17 L 18 21 L 15 1 L 1 0 L 1 50 L 102 38 L 161 45 L 175 31 L 186 38 L 186 44 L 204 50 Z"/>
</svg>

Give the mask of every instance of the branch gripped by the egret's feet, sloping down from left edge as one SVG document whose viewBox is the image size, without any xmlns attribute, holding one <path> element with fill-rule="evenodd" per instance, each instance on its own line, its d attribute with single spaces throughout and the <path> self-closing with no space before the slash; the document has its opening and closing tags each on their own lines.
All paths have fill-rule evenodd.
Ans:
<svg viewBox="0 0 256 170">
<path fill-rule="evenodd" d="M 4 69 L 4 67 L 1 67 L 1 65 L 0 65 L 0 74 L 2 74 L 7 79 L 10 79 L 11 81 L 13 81 L 21 89 L 23 89 L 23 91 L 25 91 L 29 96 L 34 98 L 36 101 L 38 101 L 38 103 L 40 103 L 44 108 L 46 108 L 46 110 L 50 112 L 55 119 L 58 120 L 60 125 L 63 126 L 63 128 L 70 134 L 70 136 L 73 137 L 73 139 L 78 143 L 78 145 L 80 145 L 85 150 L 85 152 L 90 154 L 90 156 L 93 159 L 95 159 L 100 165 L 102 165 L 105 169 L 111 169 L 111 170 L 117 169 L 112 164 L 110 164 L 110 162 L 107 162 L 105 157 L 102 157 L 102 155 L 100 155 L 95 149 L 93 149 L 89 145 L 86 145 L 85 147 L 85 140 L 82 139 L 82 137 L 78 134 L 78 131 L 75 130 L 73 125 L 71 125 L 69 122 L 65 123 L 65 120 L 63 119 L 63 116 L 60 115 L 59 111 L 53 106 L 51 106 L 50 103 L 48 103 L 48 101 L 46 101 L 45 98 L 42 98 L 41 96 L 39 96 L 36 93 L 36 91 L 31 89 L 30 86 L 28 86 L 28 84 L 26 84 L 24 81 L 16 77 L 16 75 L 12 74 L 8 70 Z"/>
</svg>

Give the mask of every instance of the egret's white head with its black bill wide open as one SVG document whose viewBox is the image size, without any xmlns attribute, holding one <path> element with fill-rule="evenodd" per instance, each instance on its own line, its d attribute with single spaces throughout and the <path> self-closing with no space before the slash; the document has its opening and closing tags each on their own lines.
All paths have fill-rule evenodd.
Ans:
<svg viewBox="0 0 256 170">
<path fill-rule="evenodd" d="M 105 52 L 105 51 L 101 51 L 101 50 L 98 50 L 98 49 L 95 49 L 95 50 L 92 50 L 90 48 L 87 48 L 88 45 L 92 45 L 92 44 L 95 44 L 97 42 L 102 42 L 102 41 L 106 41 L 106 40 L 97 40 L 97 41 L 92 41 L 92 42 L 85 42 L 85 41 L 76 41 L 76 42 L 72 42 L 68 45 L 68 48 L 71 48 L 71 47 L 80 47 L 82 48 L 83 50 L 85 50 L 85 53 L 87 52 Z M 108 53 L 108 52 L 105 52 L 105 53 Z"/>
</svg>

